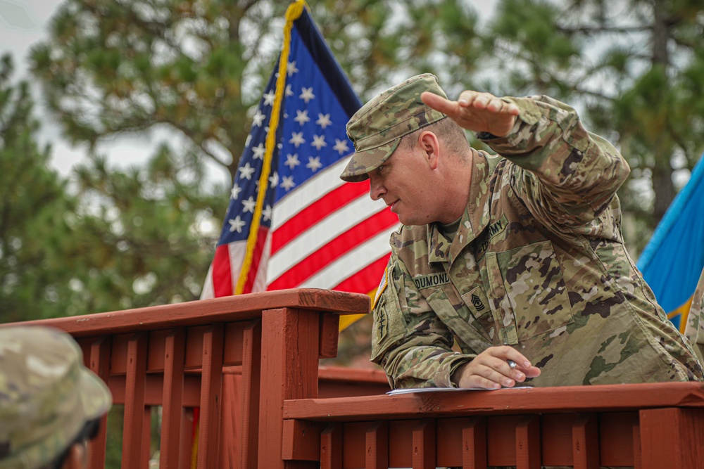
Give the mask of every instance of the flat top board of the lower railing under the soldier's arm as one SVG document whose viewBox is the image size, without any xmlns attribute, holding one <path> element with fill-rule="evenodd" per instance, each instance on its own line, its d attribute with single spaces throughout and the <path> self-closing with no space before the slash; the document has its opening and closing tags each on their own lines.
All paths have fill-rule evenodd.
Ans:
<svg viewBox="0 0 704 469">
<path fill-rule="evenodd" d="M 422 392 L 396 396 L 284 401 L 284 418 L 363 421 L 501 413 L 627 411 L 704 407 L 704 383 L 643 383 L 534 387 L 488 391 Z"/>
</svg>

